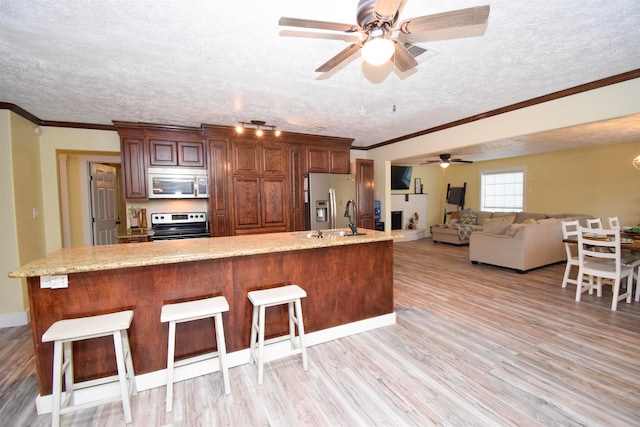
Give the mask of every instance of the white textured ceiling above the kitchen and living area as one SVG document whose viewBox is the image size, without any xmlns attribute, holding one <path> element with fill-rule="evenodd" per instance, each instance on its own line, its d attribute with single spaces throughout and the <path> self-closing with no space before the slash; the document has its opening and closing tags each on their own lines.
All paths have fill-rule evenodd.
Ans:
<svg viewBox="0 0 640 427">
<path fill-rule="evenodd" d="M 366 147 L 640 69 L 638 0 L 409 0 L 401 19 L 483 4 L 491 13 L 479 37 L 416 37 L 427 52 L 406 73 L 359 55 L 316 73 L 352 38 L 277 25 L 355 23 L 356 4 L 0 0 L 0 102 L 46 121 L 264 120 Z M 477 147 L 476 160 L 496 147 L 539 150 L 539 137 Z"/>
</svg>

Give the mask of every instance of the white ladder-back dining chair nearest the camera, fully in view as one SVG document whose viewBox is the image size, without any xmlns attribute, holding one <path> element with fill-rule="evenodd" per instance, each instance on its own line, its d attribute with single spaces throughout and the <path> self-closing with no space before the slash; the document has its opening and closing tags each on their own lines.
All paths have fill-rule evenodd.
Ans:
<svg viewBox="0 0 640 427">
<path fill-rule="evenodd" d="M 578 229 L 578 286 L 576 287 L 576 301 L 580 301 L 581 294 L 593 291 L 593 278 L 597 278 L 598 296 L 602 296 L 602 279 L 612 279 L 613 299 L 611 310 L 615 311 L 618 301 L 626 299 L 631 302 L 633 267 L 622 264 L 620 248 L 620 230 L 593 229 L 580 227 Z M 591 276 L 585 284 L 584 276 Z M 626 279 L 626 292 L 620 294 L 622 279 Z"/>
</svg>

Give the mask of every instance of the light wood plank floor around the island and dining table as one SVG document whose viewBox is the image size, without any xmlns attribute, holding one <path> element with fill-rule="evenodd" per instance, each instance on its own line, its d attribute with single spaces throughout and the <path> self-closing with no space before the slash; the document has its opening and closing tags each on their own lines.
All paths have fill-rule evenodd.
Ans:
<svg viewBox="0 0 640 427">
<path fill-rule="evenodd" d="M 345 266 L 348 268 L 357 266 Z M 472 265 L 468 248 L 395 244 L 398 323 L 309 348 L 265 367 L 230 369 L 138 393 L 133 426 L 637 426 L 640 304 L 611 312 L 610 292 L 574 301 L 564 265 L 519 274 Z M 607 288 L 608 290 L 609 288 Z M 28 327 L 0 330 L 0 425 L 46 426 Z M 117 403 L 64 426 L 123 425 Z"/>
</svg>

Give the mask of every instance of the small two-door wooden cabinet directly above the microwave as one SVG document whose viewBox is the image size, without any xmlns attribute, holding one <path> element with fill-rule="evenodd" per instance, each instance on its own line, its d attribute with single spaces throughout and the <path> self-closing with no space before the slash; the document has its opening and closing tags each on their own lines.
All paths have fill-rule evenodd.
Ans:
<svg viewBox="0 0 640 427">
<path fill-rule="evenodd" d="M 204 142 L 149 139 L 149 165 L 203 168 Z"/>
</svg>

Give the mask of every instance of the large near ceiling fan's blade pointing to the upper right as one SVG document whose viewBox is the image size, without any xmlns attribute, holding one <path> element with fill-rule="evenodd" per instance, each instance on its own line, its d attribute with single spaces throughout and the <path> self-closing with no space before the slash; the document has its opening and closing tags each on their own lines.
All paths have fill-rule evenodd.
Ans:
<svg viewBox="0 0 640 427">
<path fill-rule="evenodd" d="M 411 18 L 401 23 L 404 33 L 442 30 L 446 28 L 480 25 L 489 17 L 489 5 L 470 7 L 451 12 L 436 13 L 434 15 Z"/>
</svg>

